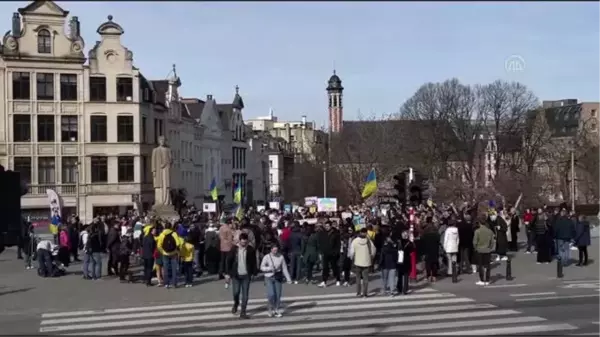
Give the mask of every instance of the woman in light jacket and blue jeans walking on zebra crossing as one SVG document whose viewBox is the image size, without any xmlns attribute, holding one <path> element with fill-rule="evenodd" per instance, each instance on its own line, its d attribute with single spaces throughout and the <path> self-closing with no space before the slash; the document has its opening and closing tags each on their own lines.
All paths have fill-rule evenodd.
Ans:
<svg viewBox="0 0 600 337">
<path fill-rule="evenodd" d="M 274 243 L 269 254 L 263 257 L 260 270 L 265 273 L 269 317 L 282 317 L 280 306 L 283 282 L 287 281 L 290 284 L 292 283 L 292 278 L 287 270 L 285 258 L 279 252 L 279 245 L 277 243 Z"/>
</svg>

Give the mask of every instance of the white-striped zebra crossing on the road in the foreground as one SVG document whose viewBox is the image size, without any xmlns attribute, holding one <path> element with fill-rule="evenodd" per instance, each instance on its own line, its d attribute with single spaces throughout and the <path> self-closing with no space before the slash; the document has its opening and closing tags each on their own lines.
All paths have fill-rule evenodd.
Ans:
<svg viewBox="0 0 600 337">
<path fill-rule="evenodd" d="M 257 291 L 257 288 L 251 290 Z M 565 333 L 566 323 L 421 289 L 407 296 L 357 298 L 354 293 L 283 299 L 284 316 L 269 318 L 264 299 L 248 303 L 249 320 L 231 314 L 231 301 L 45 313 L 46 335 L 504 335 Z"/>
</svg>

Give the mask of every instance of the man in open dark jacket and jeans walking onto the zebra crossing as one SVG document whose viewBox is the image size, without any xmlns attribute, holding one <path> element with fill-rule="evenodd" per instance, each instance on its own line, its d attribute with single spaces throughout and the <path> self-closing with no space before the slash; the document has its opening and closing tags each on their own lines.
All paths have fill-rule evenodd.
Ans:
<svg viewBox="0 0 600 337">
<path fill-rule="evenodd" d="M 241 233 L 238 245 L 231 248 L 225 259 L 225 279 L 231 280 L 233 285 L 231 313 L 237 314 L 241 300 L 240 318 L 242 319 L 250 318 L 246 314 L 246 307 L 250 294 L 250 280 L 258 272 L 255 254 L 254 248 L 248 244 L 248 235 Z"/>
</svg>

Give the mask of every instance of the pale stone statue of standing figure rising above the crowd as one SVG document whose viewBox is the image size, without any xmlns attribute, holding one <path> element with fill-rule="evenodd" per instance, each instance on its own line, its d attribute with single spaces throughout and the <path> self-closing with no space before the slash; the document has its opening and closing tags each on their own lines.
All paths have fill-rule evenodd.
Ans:
<svg viewBox="0 0 600 337">
<path fill-rule="evenodd" d="M 158 138 L 158 146 L 152 150 L 152 181 L 154 207 L 171 205 L 171 165 L 173 154 L 164 136 Z"/>
</svg>

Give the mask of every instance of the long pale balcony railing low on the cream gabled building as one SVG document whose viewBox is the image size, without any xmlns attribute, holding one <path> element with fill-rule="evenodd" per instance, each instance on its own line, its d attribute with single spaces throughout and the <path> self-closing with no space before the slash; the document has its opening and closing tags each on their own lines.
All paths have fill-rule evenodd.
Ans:
<svg viewBox="0 0 600 337">
<path fill-rule="evenodd" d="M 52 189 L 59 195 L 74 196 L 77 194 L 77 186 L 75 184 L 35 184 L 28 186 L 28 196 L 43 196 L 46 195 L 46 190 Z M 86 194 L 138 194 L 152 191 L 152 184 L 140 183 L 101 183 L 101 184 L 81 184 L 79 185 L 79 193 Z"/>
</svg>

